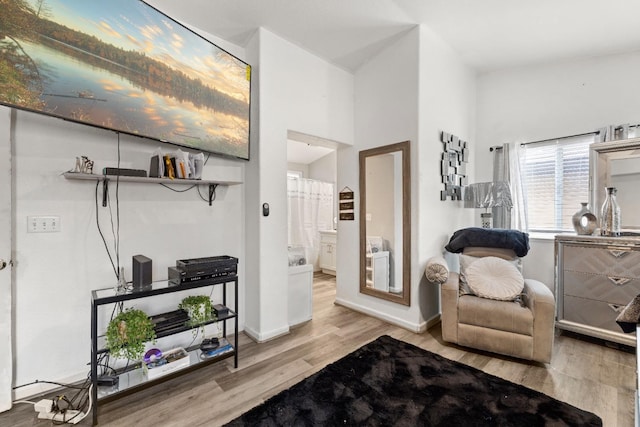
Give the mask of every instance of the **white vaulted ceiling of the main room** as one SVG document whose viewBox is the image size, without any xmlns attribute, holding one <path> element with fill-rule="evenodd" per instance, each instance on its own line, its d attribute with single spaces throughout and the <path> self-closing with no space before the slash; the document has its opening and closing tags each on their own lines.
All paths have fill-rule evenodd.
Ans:
<svg viewBox="0 0 640 427">
<path fill-rule="evenodd" d="M 640 49 L 635 0 L 147 0 L 239 46 L 258 27 L 349 71 L 417 24 L 478 72 Z"/>
</svg>

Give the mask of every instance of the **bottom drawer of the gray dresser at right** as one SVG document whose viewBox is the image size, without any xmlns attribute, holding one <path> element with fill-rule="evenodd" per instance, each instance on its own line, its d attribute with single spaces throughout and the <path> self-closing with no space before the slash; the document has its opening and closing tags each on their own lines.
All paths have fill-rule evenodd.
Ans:
<svg viewBox="0 0 640 427">
<path fill-rule="evenodd" d="M 564 320 L 622 333 L 616 323 L 618 312 L 625 306 L 612 306 L 606 302 L 585 298 L 564 297 Z"/>
</svg>

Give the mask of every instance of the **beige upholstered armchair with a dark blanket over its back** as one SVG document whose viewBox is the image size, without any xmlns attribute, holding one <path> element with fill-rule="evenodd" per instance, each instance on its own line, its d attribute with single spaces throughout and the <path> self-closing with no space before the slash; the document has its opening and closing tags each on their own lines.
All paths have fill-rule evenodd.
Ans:
<svg viewBox="0 0 640 427">
<path fill-rule="evenodd" d="M 487 257 L 493 258 L 477 263 Z M 513 268 L 501 260 L 510 261 Z M 472 283 L 467 282 L 480 277 L 484 285 L 493 288 L 487 293 L 500 294 L 503 282 L 508 282 L 510 275 L 515 276 L 513 271 L 517 270 L 519 263 L 520 258 L 513 249 L 463 249 L 460 255 L 461 274 L 448 273 L 442 284 L 442 337 L 445 341 L 542 363 L 551 361 L 555 299 L 547 286 L 536 280 L 524 279 L 520 274 L 521 291 L 512 300 L 479 296 L 468 288 Z M 495 264 L 500 268 L 494 268 Z"/>
</svg>

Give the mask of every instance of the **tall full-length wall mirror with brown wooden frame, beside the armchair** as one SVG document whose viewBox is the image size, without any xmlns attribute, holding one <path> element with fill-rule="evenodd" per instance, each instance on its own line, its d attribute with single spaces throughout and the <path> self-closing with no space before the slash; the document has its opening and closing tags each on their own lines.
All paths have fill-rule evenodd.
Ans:
<svg viewBox="0 0 640 427">
<path fill-rule="evenodd" d="M 411 304 L 409 141 L 360 152 L 360 292 Z"/>
</svg>

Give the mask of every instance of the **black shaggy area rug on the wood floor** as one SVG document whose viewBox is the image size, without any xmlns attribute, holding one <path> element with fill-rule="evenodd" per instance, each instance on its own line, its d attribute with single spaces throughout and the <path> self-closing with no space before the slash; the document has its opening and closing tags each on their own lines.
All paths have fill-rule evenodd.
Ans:
<svg viewBox="0 0 640 427">
<path fill-rule="evenodd" d="M 601 426 L 596 415 L 381 336 L 228 426 Z"/>
</svg>

